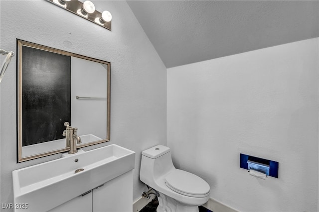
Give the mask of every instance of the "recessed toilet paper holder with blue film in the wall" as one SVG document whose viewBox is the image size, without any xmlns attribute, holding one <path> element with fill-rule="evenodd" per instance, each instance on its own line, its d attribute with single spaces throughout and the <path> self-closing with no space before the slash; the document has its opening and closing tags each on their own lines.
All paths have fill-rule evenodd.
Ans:
<svg viewBox="0 0 319 212">
<path fill-rule="evenodd" d="M 240 154 L 240 168 L 254 170 L 267 176 L 278 178 L 279 163 L 277 161 Z M 256 173 L 256 172 L 255 172 Z M 250 173 L 251 174 L 251 173 Z"/>
</svg>

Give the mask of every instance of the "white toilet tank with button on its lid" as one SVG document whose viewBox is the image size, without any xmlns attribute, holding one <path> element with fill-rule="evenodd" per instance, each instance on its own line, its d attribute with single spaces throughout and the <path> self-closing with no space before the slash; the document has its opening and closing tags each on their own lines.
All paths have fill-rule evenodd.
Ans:
<svg viewBox="0 0 319 212">
<path fill-rule="evenodd" d="M 167 146 L 157 145 L 142 152 L 140 179 L 152 187 L 156 179 L 173 169 L 170 149 Z"/>
</svg>

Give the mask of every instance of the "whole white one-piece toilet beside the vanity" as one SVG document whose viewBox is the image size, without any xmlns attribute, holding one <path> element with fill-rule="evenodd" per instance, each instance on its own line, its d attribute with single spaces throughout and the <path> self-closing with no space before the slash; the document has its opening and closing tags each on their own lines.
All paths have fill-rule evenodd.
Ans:
<svg viewBox="0 0 319 212">
<path fill-rule="evenodd" d="M 209 199 L 208 183 L 176 169 L 166 146 L 157 145 L 142 152 L 140 179 L 159 192 L 157 212 L 198 212 L 198 206 Z"/>
</svg>

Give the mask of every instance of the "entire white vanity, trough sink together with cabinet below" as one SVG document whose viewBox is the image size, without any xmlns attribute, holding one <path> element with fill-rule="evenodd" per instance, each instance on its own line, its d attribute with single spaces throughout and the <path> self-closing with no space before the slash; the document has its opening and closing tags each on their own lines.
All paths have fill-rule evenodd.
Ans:
<svg viewBox="0 0 319 212">
<path fill-rule="evenodd" d="M 14 212 L 132 212 L 134 166 L 111 144 L 14 170 L 14 204 L 27 204 Z"/>
</svg>

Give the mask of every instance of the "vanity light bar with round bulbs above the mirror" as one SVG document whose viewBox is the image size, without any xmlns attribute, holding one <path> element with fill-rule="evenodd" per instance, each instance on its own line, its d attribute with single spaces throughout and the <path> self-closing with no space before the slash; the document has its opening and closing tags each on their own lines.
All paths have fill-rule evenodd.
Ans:
<svg viewBox="0 0 319 212">
<path fill-rule="evenodd" d="M 93 23 L 96 23 L 111 31 L 111 12 L 104 10 L 102 13 L 95 10 L 94 3 L 86 0 L 83 3 L 79 0 L 47 0 L 60 6 L 69 12 L 77 14 Z"/>
</svg>

